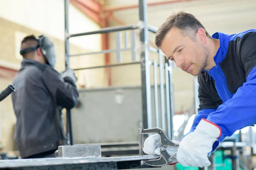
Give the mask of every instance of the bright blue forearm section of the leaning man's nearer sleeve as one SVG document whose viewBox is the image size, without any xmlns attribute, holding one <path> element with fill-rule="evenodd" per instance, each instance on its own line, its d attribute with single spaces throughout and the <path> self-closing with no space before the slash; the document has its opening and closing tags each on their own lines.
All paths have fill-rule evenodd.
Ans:
<svg viewBox="0 0 256 170">
<path fill-rule="evenodd" d="M 207 120 L 221 128 L 220 142 L 233 135 L 236 130 L 256 123 L 256 67 L 250 72 L 247 81 L 236 91 L 232 99 L 220 105 L 217 111 L 209 114 Z"/>
</svg>

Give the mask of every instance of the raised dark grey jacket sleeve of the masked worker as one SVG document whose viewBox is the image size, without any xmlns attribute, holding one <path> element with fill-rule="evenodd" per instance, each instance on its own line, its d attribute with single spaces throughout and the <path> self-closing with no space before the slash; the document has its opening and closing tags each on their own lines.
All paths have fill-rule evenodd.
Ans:
<svg viewBox="0 0 256 170">
<path fill-rule="evenodd" d="M 77 105 L 79 93 L 71 78 L 65 77 L 63 79 L 61 74 L 50 67 L 44 70 L 42 77 L 57 105 L 66 109 L 71 109 Z"/>
</svg>

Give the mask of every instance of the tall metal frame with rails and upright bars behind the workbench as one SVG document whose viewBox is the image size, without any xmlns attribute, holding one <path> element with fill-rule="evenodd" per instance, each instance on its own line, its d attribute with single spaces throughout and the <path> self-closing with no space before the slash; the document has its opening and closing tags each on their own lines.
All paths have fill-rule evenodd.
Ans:
<svg viewBox="0 0 256 170">
<path fill-rule="evenodd" d="M 154 104 L 155 104 L 155 115 L 156 115 L 156 125 L 166 131 L 170 139 L 174 139 L 173 136 L 173 125 L 172 118 L 174 116 L 174 102 L 173 102 L 173 85 L 172 85 L 172 63 L 166 59 L 163 53 L 156 49 L 149 47 L 148 45 L 148 34 L 156 33 L 157 28 L 148 25 L 147 16 L 147 3 L 146 0 L 139 0 L 139 23 L 130 26 L 115 26 L 102 28 L 97 31 L 90 31 L 78 34 L 69 34 L 69 22 L 68 22 L 68 10 L 69 0 L 65 0 L 64 13 L 65 13 L 65 65 L 66 69 L 70 68 L 70 57 L 81 56 L 87 54 L 105 54 L 105 53 L 116 53 L 116 61 L 120 64 L 114 65 L 102 65 L 96 67 L 88 68 L 76 68 L 74 70 L 84 70 L 93 68 L 105 68 L 105 67 L 115 67 L 121 65 L 133 65 L 140 64 L 141 66 L 141 90 L 142 90 L 142 122 L 144 128 L 152 127 L 152 110 L 151 110 L 151 83 L 150 83 L 150 67 L 154 67 Z M 140 48 L 136 44 L 136 29 L 140 31 Z M 121 49 L 121 31 L 125 31 L 125 48 Z M 131 48 L 127 47 L 127 31 L 131 31 Z M 99 52 L 92 52 L 86 54 L 75 54 L 70 55 L 70 44 L 69 39 L 72 37 L 86 36 L 92 34 L 107 34 L 116 32 L 116 49 L 103 50 Z M 140 61 L 137 61 L 137 49 L 140 49 Z M 122 63 L 122 51 L 131 51 L 132 61 L 130 63 Z M 158 53 L 159 63 L 156 60 L 149 60 L 149 51 Z M 163 60 L 164 59 L 164 60 Z M 163 64 L 164 62 L 164 64 Z M 159 69 L 160 78 L 160 116 L 158 113 L 158 85 L 157 85 L 157 68 Z M 165 76 L 164 76 L 165 75 Z M 164 78 L 166 83 L 164 85 Z M 71 111 L 67 111 L 67 139 L 68 144 L 73 145 L 73 135 L 72 135 L 72 124 L 71 124 Z M 167 125 L 166 125 L 167 124 Z M 167 130 L 166 130 L 167 129 Z M 145 136 L 146 137 L 146 136 Z"/>
</svg>

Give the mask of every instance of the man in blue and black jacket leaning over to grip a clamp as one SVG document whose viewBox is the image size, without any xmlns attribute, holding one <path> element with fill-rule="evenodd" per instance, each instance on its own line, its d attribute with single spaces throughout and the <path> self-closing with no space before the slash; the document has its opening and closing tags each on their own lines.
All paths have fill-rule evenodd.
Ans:
<svg viewBox="0 0 256 170">
<path fill-rule="evenodd" d="M 198 115 L 177 153 L 183 166 L 205 167 L 219 142 L 256 123 L 256 30 L 212 36 L 197 18 L 171 15 L 156 33 L 155 44 L 177 67 L 198 76 Z M 159 135 L 144 142 L 143 151 L 160 155 Z"/>
</svg>

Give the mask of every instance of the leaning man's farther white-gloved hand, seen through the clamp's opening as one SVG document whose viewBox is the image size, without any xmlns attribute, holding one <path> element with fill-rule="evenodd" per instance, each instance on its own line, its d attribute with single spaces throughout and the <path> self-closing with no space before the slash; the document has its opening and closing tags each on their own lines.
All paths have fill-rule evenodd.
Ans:
<svg viewBox="0 0 256 170">
<path fill-rule="evenodd" d="M 178 141 L 172 141 L 172 142 L 175 144 L 180 144 L 180 142 Z M 143 151 L 148 155 L 161 155 L 160 135 L 154 134 L 149 136 L 144 142 Z M 167 153 L 169 153 L 169 155 L 172 156 L 174 153 L 177 153 L 177 148 L 167 147 L 166 151 Z"/>
</svg>

